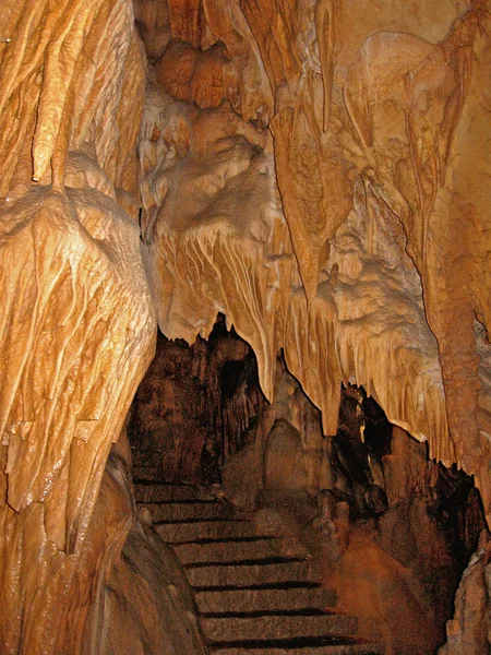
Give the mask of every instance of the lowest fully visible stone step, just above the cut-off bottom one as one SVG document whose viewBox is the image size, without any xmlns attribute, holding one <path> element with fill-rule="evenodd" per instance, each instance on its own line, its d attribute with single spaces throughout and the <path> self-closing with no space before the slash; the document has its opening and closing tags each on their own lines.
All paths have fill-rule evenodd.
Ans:
<svg viewBox="0 0 491 655">
<path fill-rule="evenodd" d="M 227 616 L 202 615 L 201 627 L 208 642 L 240 642 L 259 635 L 261 641 L 313 636 L 352 636 L 356 617 L 322 610 L 292 612 L 237 612 Z"/>
</svg>

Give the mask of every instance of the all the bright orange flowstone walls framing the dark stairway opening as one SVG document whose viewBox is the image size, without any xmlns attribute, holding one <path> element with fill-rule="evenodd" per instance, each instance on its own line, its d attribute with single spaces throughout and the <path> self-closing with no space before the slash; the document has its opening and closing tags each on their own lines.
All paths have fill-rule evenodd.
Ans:
<svg viewBox="0 0 491 655">
<path fill-rule="evenodd" d="M 156 322 L 192 344 L 225 314 L 268 401 L 283 349 L 324 436 L 342 383 L 362 386 L 475 476 L 489 519 L 486 0 L 3 0 L 0 17 L 2 652 L 121 652 L 123 546 L 158 547 L 108 456 Z"/>
</svg>

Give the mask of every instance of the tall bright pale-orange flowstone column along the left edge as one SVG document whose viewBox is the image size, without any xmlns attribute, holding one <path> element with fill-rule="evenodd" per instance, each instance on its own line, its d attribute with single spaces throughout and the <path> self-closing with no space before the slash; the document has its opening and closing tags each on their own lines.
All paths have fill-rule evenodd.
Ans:
<svg viewBox="0 0 491 655">
<path fill-rule="evenodd" d="M 155 335 L 134 221 L 144 58 L 127 0 L 2 12 L 0 650 L 93 653 L 132 515 L 109 493 L 92 516 Z"/>
</svg>

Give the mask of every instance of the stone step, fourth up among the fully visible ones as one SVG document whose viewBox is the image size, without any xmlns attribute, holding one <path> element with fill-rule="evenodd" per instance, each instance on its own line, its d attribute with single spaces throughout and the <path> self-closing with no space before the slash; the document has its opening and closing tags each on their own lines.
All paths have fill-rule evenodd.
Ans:
<svg viewBox="0 0 491 655">
<path fill-rule="evenodd" d="M 196 562 L 239 561 L 275 557 L 280 552 L 277 537 L 250 537 L 244 539 L 209 539 L 173 546 L 182 564 Z"/>
</svg>

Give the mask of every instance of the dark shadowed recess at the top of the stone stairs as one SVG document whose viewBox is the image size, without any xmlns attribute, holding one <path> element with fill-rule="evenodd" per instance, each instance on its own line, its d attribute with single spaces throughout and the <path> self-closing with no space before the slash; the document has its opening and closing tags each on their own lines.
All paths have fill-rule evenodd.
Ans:
<svg viewBox="0 0 491 655">
<path fill-rule="evenodd" d="M 266 405 L 255 356 L 221 314 L 192 346 L 159 333 L 130 410 L 134 477 L 221 484 L 221 465 Z"/>
</svg>

